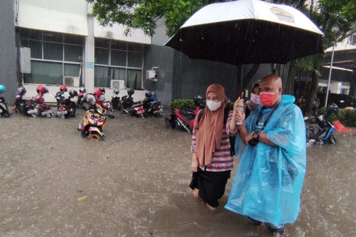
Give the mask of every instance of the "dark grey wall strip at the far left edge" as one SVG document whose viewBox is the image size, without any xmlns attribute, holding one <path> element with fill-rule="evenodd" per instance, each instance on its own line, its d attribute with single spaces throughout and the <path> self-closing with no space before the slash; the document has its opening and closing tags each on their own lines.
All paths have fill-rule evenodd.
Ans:
<svg viewBox="0 0 356 237">
<path fill-rule="evenodd" d="M 17 88 L 14 1 L 1 1 L 0 16 L 0 84 L 6 87 L 1 96 L 13 102 Z"/>
</svg>

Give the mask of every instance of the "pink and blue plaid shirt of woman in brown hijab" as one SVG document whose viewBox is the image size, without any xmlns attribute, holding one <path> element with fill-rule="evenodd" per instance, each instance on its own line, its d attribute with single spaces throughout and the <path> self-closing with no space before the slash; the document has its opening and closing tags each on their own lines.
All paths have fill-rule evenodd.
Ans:
<svg viewBox="0 0 356 237">
<path fill-rule="evenodd" d="M 199 113 L 198 113 L 199 114 Z M 197 115 L 198 116 L 198 115 Z M 229 113 L 229 117 L 227 117 L 226 126 L 224 125 L 223 137 L 221 139 L 220 149 L 216 148 L 213 153 L 213 157 L 211 158 L 211 163 L 206 166 L 199 167 L 205 171 L 227 171 L 232 169 L 234 166 L 234 157 L 230 155 L 230 139 L 229 136 L 236 136 L 236 132 L 230 131 L 230 122 L 232 119 L 232 111 Z M 194 126 L 197 120 L 194 120 Z M 192 152 L 195 151 L 195 141 L 197 134 L 192 133 Z"/>
</svg>

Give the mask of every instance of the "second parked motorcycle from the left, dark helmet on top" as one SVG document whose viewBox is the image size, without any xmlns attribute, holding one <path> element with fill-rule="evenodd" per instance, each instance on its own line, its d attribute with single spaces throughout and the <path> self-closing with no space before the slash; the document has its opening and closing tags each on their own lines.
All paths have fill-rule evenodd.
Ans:
<svg viewBox="0 0 356 237">
<path fill-rule="evenodd" d="M 17 95 L 15 96 L 15 108 L 13 109 L 13 111 L 16 111 L 19 114 L 24 114 L 36 118 L 37 110 L 35 109 L 33 99 L 31 97 L 26 97 L 25 99 L 23 99 L 23 96 L 25 96 L 26 94 L 26 88 L 17 88 L 16 94 Z"/>
</svg>

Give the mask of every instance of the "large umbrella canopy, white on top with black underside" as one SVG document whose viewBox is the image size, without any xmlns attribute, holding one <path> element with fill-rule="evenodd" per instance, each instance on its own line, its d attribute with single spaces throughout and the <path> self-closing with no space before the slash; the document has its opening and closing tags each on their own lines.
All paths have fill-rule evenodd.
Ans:
<svg viewBox="0 0 356 237">
<path fill-rule="evenodd" d="M 203 7 L 165 45 L 191 59 L 233 65 L 286 64 L 323 53 L 323 36 L 307 16 L 293 7 L 239 0 Z"/>
</svg>

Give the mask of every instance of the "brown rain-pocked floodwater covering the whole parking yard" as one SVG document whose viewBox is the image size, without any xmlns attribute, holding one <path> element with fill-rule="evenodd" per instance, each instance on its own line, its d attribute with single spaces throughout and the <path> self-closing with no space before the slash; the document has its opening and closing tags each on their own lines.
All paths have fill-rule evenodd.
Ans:
<svg viewBox="0 0 356 237">
<path fill-rule="evenodd" d="M 232 178 L 217 210 L 193 198 L 190 136 L 164 117 L 115 112 L 96 141 L 80 136 L 83 115 L 0 119 L 0 236 L 273 236 L 223 208 Z M 356 139 L 335 136 L 308 147 L 299 219 L 283 236 L 356 236 Z"/>
</svg>

